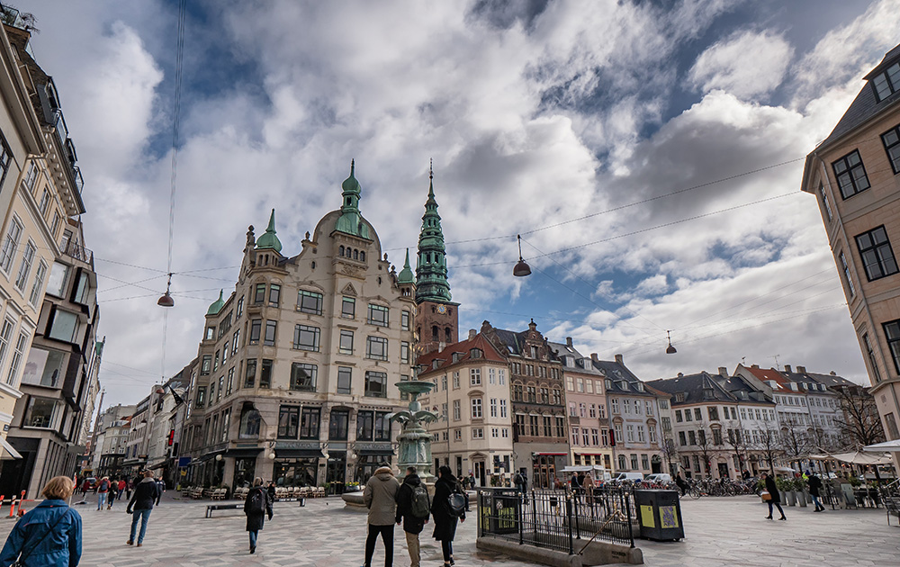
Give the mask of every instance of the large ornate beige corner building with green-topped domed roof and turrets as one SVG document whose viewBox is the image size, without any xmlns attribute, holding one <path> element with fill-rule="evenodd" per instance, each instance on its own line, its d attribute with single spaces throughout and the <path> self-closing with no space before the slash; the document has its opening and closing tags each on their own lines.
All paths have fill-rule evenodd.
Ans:
<svg viewBox="0 0 900 567">
<path fill-rule="evenodd" d="M 247 246 L 235 291 L 210 306 L 184 443 L 188 482 L 235 487 L 328 482 L 341 491 L 392 463 L 413 375 L 415 284 L 398 275 L 358 207 L 351 165 L 342 206 L 282 254 L 275 212 Z"/>
</svg>

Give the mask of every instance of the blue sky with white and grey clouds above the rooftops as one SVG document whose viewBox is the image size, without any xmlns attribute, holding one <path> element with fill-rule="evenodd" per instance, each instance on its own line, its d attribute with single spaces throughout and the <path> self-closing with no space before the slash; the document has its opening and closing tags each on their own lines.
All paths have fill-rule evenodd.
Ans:
<svg viewBox="0 0 900 567">
<path fill-rule="evenodd" d="M 799 185 L 900 41 L 900 0 L 188 4 L 165 351 L 178 2 L 17 4 L 85 176 L 107 402 L 190 361 L 247 225 L 275 208 L 298 253 L 351 158 L 400 264 L 434 159 L 463 333 L 534 318 L 644 380 L 742 361 L 866 380 Z"/>
</svg>

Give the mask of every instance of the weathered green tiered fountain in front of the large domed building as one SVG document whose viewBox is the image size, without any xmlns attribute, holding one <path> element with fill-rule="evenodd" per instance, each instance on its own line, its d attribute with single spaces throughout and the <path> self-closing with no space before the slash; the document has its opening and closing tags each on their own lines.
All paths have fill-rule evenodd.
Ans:
<svg viewBox="0 0 900 567">
<path fill-rule="evenodd" d="M 409 410 L 402 410 L 391 415 L 391 420 L 402 425 L 400 435 L 397 436 L 397 466 L 400 469 L 400 478 L 406 475 L 406 469 L 416 467 L 416 472 L 422 477 L 423 482 L 432 480 L 431 474 L 431 434 L 424 424 L 437 420 L 437 415 L 422 410 L 422 404 L 417 398 L 435 387 L 434 383 L 419 382 L 418 380 L 397 383 L 402 393 L 410 395 Z M 363 508 L 363 491 L 346 492 L 341 495 L 347 503 L 347 507 Z"/>
</svg>

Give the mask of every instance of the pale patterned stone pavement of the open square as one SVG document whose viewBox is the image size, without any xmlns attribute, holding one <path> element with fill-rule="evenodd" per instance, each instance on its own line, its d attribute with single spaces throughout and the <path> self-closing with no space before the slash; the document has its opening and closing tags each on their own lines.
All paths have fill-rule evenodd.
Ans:
<svg viewBox="0 0 900 567">
<path fill-rule="evenodd" d="M 217 511 L 204 518 L 206 501 L 171 498 L 150 516 L 147 538 L 140 549 L 125 545 L 130 516 L 124 502 L 112 511 L 96 511 L 94 497 L 76 506 L 84 518 L 87 567 L 205 567 L 210 565 L 299 565 L 356 567 L 363 563 L 365 514 L 345 509 L 335 498 L 275 503 L 275 519 L 266 521 L 257 554 L 247 553 L 247 533 L 240 510 Z M 93 501 L 93 502 L 92 502 Z M 829 510 L 787 508 L 787 522 L 766 520 L 768 510 L 751 497 L 682 500 L 687 538 L 681 542 L 638 540 L 644 562 L 651 567 L 845 567 L 896 565 L 900 557 L 900 527 L 887 526 L 884 509 Z M 475 518 L 456 534 L 455 558 L 460 567 L 527 565 L 509 557 L 475 549 Z M 13 527 L 0 519 L 0 535 Z M 440 546 L 422 536 L 422 565 L 438 567 Z M 410 564 L 406 541 L 396 528 L 394 564 Z M 383 564 L 383 548 L 375 548 L 373 565 Z"/>
</svg>

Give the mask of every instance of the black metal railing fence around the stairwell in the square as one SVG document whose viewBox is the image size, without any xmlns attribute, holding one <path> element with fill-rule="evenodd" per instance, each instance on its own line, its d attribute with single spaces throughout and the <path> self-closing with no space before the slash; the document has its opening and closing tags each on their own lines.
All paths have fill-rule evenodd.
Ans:
<svg viewBox="0 0 900 567">
<path fill-rule="evenodd" d="M 590 541 L 635 546 L 635 499 L 628 488 L 588 492 L 478 491 L 478 536 L 578 554 Z"/>
</svg>

